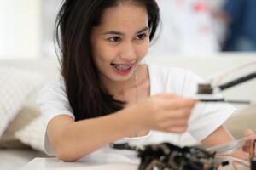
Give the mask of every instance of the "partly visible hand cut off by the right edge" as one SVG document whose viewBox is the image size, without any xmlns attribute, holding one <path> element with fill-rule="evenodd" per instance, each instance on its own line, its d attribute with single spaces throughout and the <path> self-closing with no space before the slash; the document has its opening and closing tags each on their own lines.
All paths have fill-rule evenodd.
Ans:
<svg viewBox="0 0 256 170">
<path fill-rule="evenodd" d="M 253 131 L 251 129 L 247 129 L 244 132 L 244 136 L 252 137 L 251 139 L 247 140 L 246 144 L 242 147 L 242 150 L 247 152 L 249 154 L 250 158 L 252 158 L 254 156 L 254 152 L 255 152 L 255 148 L 253 145 L 254 145 L 254 140 L 256 139 L 256 135 L 255 135 L 255 133 L 253 133 Z"/>
</svg>

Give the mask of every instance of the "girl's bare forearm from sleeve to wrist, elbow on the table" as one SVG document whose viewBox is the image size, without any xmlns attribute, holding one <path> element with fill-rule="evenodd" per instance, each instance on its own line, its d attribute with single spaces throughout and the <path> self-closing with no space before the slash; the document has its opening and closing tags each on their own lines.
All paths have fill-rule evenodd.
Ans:
<svg viewBox="0 0 256 170">
<path fill-rule="evenodd" d="M 116 139 L 134 134 L 133 117 L 127 114 L 132 109 L 79 122 L 73 122 L 71 116 L 55 116 L 47 128 L 55 156 L 76 161 Z"/>
</svg>

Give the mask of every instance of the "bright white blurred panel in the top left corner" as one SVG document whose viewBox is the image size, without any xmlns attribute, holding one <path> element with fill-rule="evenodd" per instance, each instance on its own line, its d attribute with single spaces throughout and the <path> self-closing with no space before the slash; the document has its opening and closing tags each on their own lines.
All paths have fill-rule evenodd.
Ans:
<svg viewBox="0 0 256 170">
<path fill-rule="evenodd" d="M 0 0 L 0 59 L 41 54 L 40 0 Z"/>
</svg>

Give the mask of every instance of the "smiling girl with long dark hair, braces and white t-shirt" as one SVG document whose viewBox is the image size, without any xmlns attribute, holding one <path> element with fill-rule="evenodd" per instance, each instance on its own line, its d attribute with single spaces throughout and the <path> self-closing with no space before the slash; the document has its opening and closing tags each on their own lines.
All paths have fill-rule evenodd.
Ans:
<svg viewBox="0 0 256 170">
<path fill-rule="evenodd" d="M 56 25 L 62 77 L 38 98 L 49 155 L 131 161 L 136 156 L 108 144 L 179 144 L 185 132 L 206 147 L 233 140 L 223 127 L 232 106 L 190 98 L 200 77 L 141 63 L 159 21 L 155 0 L 63 2 Z"/>
</svg>

